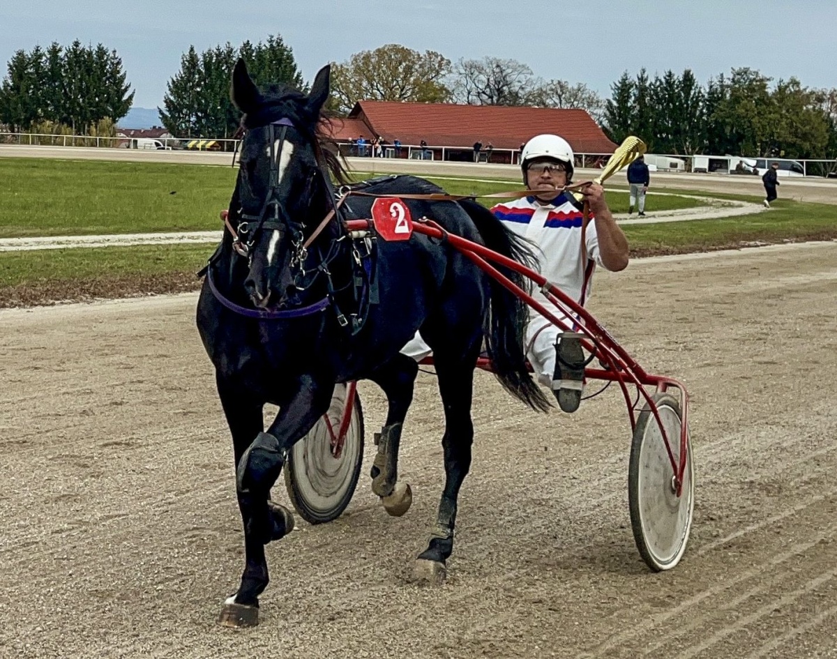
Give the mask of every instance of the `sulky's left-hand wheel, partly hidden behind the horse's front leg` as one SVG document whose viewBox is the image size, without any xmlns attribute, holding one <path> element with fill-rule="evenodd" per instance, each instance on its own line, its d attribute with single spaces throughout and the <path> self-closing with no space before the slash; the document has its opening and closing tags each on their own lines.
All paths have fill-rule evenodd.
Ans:
<svg viewBox="0 0 837 659">
<path fill-rule="evenodd" d="M 354 385 L 348 387 L 353 389 Z M 295 443 L 285 463 L 285 487 L 290 502 L 300 517 L 311 524 L 331 522 L 340 517 L 352 500 L 361 473 L 363 411 L 357 394 L 342 447 L 337 452 L 333 446 L 333 437 L 340 432 L 346 401 L 347 386 L 337 385 L 328 412 Z"/>
</svg>

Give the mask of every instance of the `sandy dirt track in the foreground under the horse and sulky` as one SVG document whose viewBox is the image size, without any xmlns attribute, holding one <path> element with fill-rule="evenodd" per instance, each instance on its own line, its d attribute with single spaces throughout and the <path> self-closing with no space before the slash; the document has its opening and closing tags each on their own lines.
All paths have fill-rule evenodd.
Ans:
<svg viewBox="0 0 837 659">
<path fill-rule="evenodd" d="M 834 263 L 818 243 L 598 277 L 593 312 L 691 389 L 696 520 L 672 572 L 634 548 L 620 396 L 536 416 L 480 374 L 449 581 L 410 583 L 443 478 L 422 375 L 413 509 L 388 518 L 362 478 L 343 518 L 300 523 L 249 631 L 214 623 L 242 536 L 195 296 L 0 312 L 0 656 L 837 656 Z M 371 437 L 383 401 L 362 400 Z"/>
</svg>

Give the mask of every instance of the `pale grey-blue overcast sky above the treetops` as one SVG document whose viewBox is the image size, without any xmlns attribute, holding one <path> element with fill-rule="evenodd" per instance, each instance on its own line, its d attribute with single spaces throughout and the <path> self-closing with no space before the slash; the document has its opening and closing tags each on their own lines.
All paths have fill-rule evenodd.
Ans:
<svg viewBox="0 0 837 659">
<path fill-rule="evenodd" d="M 306 80 L 329 61 L 403 43 L 456 61 L 517 59 L 609 97 L 624 71 L 692 69 L 701 83 L 748 66 L 837 87 L 837 0 L 0 0 L 0 61 L 75 38 L 116 49 L 134 105 L 162 105 L 190 45 L 280 34 Z"/>
</svg>

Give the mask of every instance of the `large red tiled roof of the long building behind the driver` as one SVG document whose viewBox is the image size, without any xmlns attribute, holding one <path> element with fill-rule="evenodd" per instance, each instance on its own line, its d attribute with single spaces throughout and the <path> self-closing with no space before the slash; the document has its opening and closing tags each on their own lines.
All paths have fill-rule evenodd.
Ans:
<svg viewBox="0 0 837 659">
<path fill-rule="evenodd" d="M 578 153 L 613 153 L 617 146 L 585 110 L 361 100 L 349 117 L 405 145 L 426 140 L 429 146 L 470 147 L 479 140 L 517 149 L 534 135 L 556 133 Z"/>
</svg>

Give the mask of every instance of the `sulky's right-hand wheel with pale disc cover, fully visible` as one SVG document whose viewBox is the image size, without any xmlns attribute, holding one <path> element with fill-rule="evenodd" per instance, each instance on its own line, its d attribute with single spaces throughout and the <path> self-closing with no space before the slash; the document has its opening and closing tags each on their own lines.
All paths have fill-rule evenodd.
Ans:
<svg viewBox="0 0 837 659">
<path fill-rule="evenodd" d="M 680 403 L 664 393 L 656 393 L 652 399 L 657 404 L 672 455 L 679 464 Z M 686 551 L 695 508 L 694 476 L 691 440 L 687 437 L 686 471 L 678 497 L 660 426 L 646 405 L 639 413 L 630 449 L 628 499 L 636 546 L 645 563 L 655 572 L 673 568 Z"/>
</svg>

